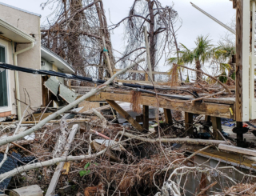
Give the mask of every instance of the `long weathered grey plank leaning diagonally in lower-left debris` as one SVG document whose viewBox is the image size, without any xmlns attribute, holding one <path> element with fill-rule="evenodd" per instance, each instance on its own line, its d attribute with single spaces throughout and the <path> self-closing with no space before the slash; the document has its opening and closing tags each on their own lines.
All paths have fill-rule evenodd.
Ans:
<svg viewBox="0 0 256 196">
<path fill-rule="evenodd" d="M 78 131 L 78 125 L 74 125 L 72 127 L 72 130 L 70 131 L 69 138 L 66 141 L 67 144 L 66 144 L 66 146 L 65 146 L 65 148 L 63 150 L 62 157 L 66 157 L 69 154 L 71 143 L 73 142 L 74 136 L 77 133 L 77 131 Z M 54 190 L 55 190 L 55 188 L 56 188 L 56 186 L 58 184 L 58 178 L 61 175 L 64 163 L 65 162 L 58 163 L 58 166 L 56 167 L 56 170 L 54 172 L 54 176 L 53 176 L 53 178 L 51 178 L 50 185 L 49 185 L 49 187 L 47 189 L 46 196 L 54 195 Z"/>
</svg>

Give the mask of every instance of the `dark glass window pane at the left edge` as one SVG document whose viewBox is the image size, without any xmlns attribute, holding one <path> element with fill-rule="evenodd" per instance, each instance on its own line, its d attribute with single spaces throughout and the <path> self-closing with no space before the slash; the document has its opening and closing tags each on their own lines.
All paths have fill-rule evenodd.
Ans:
<svg viewBox="0 0 256 196">
<path fill-rule="evenodd" d="M 6 48 L 0 46 L 0 62 L 6 62 Z M 6 70 L 0 70 L 0 107 L 8 106 L 8 85 Z"/>
</svg>

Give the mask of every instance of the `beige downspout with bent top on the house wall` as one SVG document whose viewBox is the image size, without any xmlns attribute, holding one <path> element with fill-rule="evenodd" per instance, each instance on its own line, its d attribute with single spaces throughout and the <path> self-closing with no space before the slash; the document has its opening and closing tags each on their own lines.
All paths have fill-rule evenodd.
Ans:
<svg viewBox="0 0 256 196">
<path fill-rule="evenodd" d="M 31 42 L 31 46 L 24 48 L 22 50 L 19 50 L 18 52 L 14 53 L 14 66 L 18 66 L 17 62 L 17 55 L 22 54 L 26 52 L 27 50 L 30 50 L 34 47 L 34 42 Z M 17 104 L 17 111 L 18 111 L 18 119 L 20 120 L 22 118 L 22 110 L 21 110 L 21 103 L 18 100 L 20 99 L 19 94 L 19 82 L 18 82 L 18 71 L 15 71 L 15 89 L 16 89 L 16 104 Z"/>
</svg>

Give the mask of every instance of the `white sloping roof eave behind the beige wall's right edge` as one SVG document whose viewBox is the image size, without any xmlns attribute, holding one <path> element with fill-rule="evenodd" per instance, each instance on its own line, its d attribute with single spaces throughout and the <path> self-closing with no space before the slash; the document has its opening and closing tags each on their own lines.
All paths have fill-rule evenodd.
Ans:
<svg viewBox="0 0 256 196">
<path fill-rule="evenodd" d="M 66 74 L 74 74 L 74 69 L 63 58 L 55 54 L 53 51 L 41 46 L 41 57 L 45 58 L 48 62 L 57 66 L 59 70 Z"/>
</svg>

